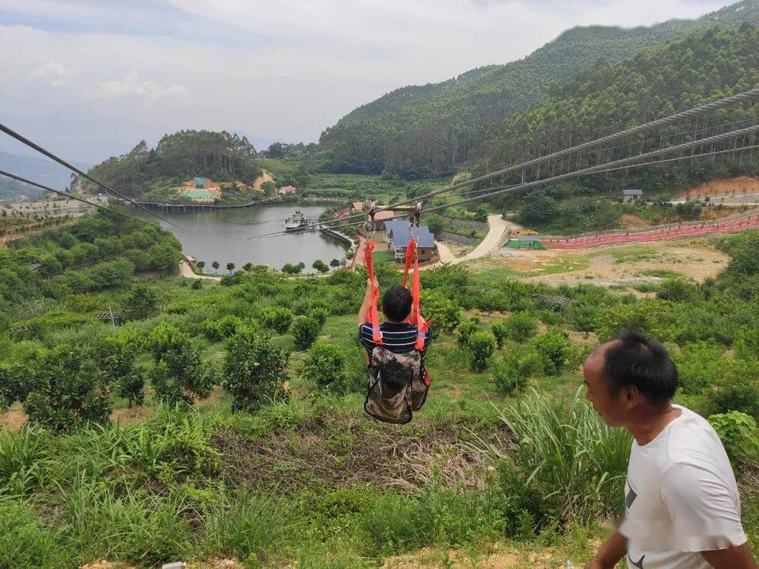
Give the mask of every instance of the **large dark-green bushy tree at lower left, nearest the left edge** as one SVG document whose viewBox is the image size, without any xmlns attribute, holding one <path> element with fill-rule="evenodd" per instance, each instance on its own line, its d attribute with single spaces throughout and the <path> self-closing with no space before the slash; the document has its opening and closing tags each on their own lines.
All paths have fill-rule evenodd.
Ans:
<svg viewBox="0 0 759 569">
<path fill-rule="evenodd" d="M 27 362 L 33 387 L 24 401 L 30 422 L 56 432 L 82 423 L 109 422 L 106 380 L 86 347 L 61 344 Z"/>
</svg>

